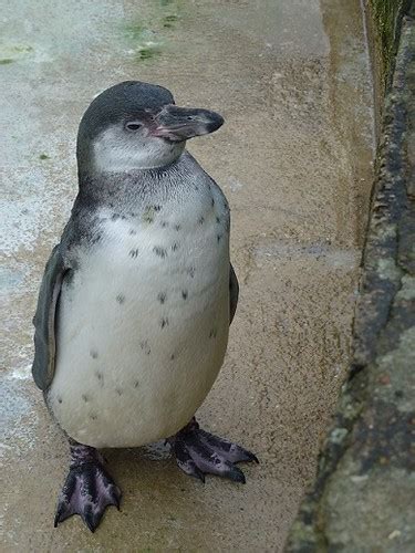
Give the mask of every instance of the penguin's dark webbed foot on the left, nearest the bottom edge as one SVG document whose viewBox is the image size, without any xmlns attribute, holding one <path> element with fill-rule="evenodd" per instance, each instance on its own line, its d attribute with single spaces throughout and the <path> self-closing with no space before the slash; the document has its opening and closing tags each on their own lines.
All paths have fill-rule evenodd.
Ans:
<svg viewBox="0 0 415 553">
<path fill-rule="evenodd" d="M 71 444 L 71 466 L 58 500 L 54 526 L 80 514 L 94 532 L 108 505 L 120 510 L 121 490 L 103 466 L 100 453 L 89 446 Z"/>
</svg>

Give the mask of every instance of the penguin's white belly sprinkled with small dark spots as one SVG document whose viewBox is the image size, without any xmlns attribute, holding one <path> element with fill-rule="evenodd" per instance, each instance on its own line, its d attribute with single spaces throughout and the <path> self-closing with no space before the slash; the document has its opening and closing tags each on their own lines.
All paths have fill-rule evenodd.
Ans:
<svg viewBox="0 0 415 553">
<path fill-rule="evenodd" d="M 62 288 L 46 399 L 76 441 L 137 447 L 183 428 L 220 369 L 228 222 L 212 209 L 193 223 L 100 217 L 101 240 L 79 251 Z"/>
</svg>

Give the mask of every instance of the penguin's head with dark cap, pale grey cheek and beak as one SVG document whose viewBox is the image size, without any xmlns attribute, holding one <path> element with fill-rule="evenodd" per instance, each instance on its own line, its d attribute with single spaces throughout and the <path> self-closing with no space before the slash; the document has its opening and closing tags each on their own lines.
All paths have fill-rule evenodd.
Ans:
<svg viewBox="0 0 415 553">
<path fill-rule="evenodd" d="M 224 123 L 208 109 L 178 107 L 163 86 L 126 81 L 91 103 L 77 133 L 80 175 L 164 167 L 177 159 L 186 140 Z"/>
</svg>

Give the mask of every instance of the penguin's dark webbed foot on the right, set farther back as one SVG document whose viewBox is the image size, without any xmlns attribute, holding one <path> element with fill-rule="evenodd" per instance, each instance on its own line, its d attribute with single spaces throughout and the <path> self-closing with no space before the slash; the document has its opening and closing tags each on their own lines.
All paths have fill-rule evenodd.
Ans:
<svg viewBox="0 0 415 553">
<path fill-rule="evenodd" d="M 245 483 L 245 474 L 235 463 L 259 462 L 253 453 L 241 446 L 203 430 L 195 418 L 168 441 L 178 467 L 203 482 L 205 474 L 217 474 Z"/>
</svg>

